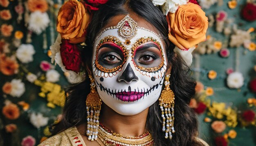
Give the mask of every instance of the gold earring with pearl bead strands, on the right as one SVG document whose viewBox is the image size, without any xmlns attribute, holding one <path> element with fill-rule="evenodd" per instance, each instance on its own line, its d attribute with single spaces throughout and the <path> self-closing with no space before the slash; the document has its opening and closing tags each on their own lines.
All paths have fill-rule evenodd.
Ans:
<svg viewBox="0 0 256 146">
<path fill-rule="evenodd" d="M 172 133 L 174 130 L 174 93 L 170 88 L 169 78 L 171 74 L 165 76 L 164 79 L 164 90 L 159 97 L 159 105 L 162 112 L 163 128 L 162 131 L 165 132 L 165 138 L 172 139 Z"/>
</svg>

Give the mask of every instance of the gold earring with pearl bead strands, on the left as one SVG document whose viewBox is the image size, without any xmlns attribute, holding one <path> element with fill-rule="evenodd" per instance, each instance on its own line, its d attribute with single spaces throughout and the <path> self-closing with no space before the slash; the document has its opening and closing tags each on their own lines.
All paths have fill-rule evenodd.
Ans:
<svg viewBox="0 0 256 146">
<path fill-rule="evenodd" d="M 91 81 L 91 91 L 86 98 L 87 111 L 87 131 L 88 140 L 94 141 L 98 137 L 99 112 L 101 111 L 101 98 L 95 89 L 95 82 L 92 75 L 89 75 Z"/>
</svg>

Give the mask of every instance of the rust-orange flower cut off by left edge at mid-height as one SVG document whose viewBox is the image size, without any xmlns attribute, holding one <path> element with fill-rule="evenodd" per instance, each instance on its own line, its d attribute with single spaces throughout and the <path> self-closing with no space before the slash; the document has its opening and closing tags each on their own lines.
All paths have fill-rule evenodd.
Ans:
<svg viewBox="0 0 256 146">
<path fill-rule="evenodd" d="M 0 71 L 4 75 L 13 75 L 18 73 L 19 64 L 16 60 L 0 55 Z"/>
</svg>

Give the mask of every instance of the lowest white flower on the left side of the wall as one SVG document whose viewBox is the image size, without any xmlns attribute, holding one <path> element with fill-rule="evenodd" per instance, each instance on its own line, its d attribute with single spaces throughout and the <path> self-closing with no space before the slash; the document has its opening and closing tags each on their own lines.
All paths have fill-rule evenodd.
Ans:
<svg viewBox="0 0 256 146">
<path fill-rule="evenodd" d="M 42 113 L 32 113 L 30 115 L 30 122 L 33 124 L 36 128 L 40 128 L 42 126 L 46 126 L 48 124 L 48 117 L 43 117 Z"/>
</svg>

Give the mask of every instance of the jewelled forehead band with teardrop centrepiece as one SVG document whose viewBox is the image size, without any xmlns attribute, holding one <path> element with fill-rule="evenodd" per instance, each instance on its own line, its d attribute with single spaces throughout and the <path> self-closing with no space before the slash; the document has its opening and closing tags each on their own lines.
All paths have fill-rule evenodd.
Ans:
<svg viewBox="0 0 256 146">
<path fill-rule="evenodd" d="M 160 34 L 157 34 L 153 31 L 150 31 L 149 29 L 145 29 L 144 27 L 138 27 L 137 22 L 135 22 L 135 20 L 133 20 L 132 18 L 130 18 L 129 15 L 126 15 L 118 24 L 117 26 L 112 26 L 112 27 L 108 27 L 106 29 L 104 29 L 103 31 L 101 31 L 99 33 L 99 35 L 95 38 L 95 40 L 98 40 L 98 38 L 107 30 L 110 29 L 118 29 L 118 35 L 123 38 L 124 40 L 128 40 L 128 39 L 132 39 L 135 37 L 135 35 L 137 35 L 137 31 L 138 29 L 143 29 L 145 31 L 149 31 L 150 33 L 153 33 L 155 35 L 157 35 L 157 37 L 159 37 L 161 40 L 163 40 L 163 38 L 161 37 Z"/>
</svg>

